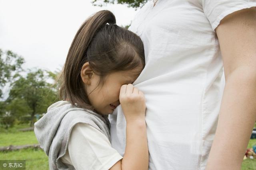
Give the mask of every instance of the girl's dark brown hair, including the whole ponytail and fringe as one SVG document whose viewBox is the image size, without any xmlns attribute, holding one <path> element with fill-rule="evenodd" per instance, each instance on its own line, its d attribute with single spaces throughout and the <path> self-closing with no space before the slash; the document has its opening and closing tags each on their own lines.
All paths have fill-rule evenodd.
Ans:
<svg viewBox="0 0 256 170">
<path fill-rule="evenodd" d="M 103 85 L 111 72 L 144 68 L 143 43 L 135 33 L 117 26 L 114 14 L 108 10 L 99 11 L 82 23 L 58 78 L 59 95 L 61 100 L 93 110 L 80 76 L 86 62 L 100 76 L 98 85 Z"/>
</svg>

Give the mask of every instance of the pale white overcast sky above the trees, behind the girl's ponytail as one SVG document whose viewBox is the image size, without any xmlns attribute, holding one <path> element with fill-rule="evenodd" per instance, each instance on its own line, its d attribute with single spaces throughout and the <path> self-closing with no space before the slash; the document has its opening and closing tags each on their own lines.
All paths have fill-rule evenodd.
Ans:
<svg viewBox="0 0 256 170">
<path fill-rule="evenodd" d="M 92 6 L 92 0 L 0 0 L 0 49 L 25 59 L 23 67 L 61 69 L 80 25 L 110 10 L 117 25 L 129 25 L 137 11 L 126 5 Z"/>
</svg>

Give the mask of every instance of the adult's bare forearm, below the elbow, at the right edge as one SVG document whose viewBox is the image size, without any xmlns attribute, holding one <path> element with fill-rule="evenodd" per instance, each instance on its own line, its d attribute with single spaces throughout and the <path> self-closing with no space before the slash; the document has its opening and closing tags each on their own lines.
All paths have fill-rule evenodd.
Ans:
<svg viewBox="0 0 256 170">
<path fill-rule="evenodd" d="M 240 67 L 227 78 L 207 170 L 240 170 L 256 120 L 256 72 Z"/>
</svg>

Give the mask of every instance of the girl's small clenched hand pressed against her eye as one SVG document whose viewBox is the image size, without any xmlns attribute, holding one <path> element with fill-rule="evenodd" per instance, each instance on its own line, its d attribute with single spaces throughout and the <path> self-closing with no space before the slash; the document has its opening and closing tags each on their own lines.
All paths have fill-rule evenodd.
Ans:
<svg viewBox="0 0 256 170">
<path fill-rule="evenodd" d="M 119 101 L 126 121 L 145 119 L 146 100 L 144 94 L 132 84 L 121 86 Z"/>
</svg>

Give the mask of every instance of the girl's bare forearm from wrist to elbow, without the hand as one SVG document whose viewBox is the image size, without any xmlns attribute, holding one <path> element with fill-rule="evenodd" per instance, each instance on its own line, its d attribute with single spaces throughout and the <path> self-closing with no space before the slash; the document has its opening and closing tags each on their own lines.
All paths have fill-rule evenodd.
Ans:
<svg viewBox="0 0 256 170">
<path fill-rule="evenodd" d="M 145 118 L 127 121 L 126 148 L 122 159 L 122 170 L 147 169 L 148 144 Z"/>
</svg>

